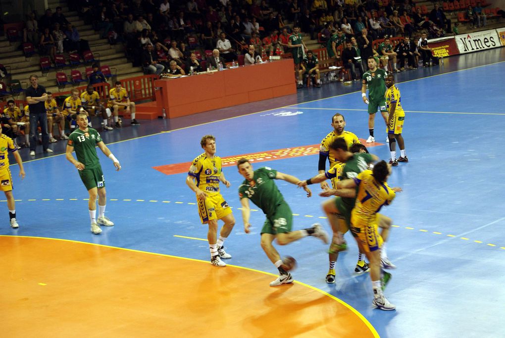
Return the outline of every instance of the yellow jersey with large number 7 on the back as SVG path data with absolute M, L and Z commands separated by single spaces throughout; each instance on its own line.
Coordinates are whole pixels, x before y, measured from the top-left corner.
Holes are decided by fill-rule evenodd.
M 376 214 L 383 205 L 389 205 L 396 193 L 389 188 L 386 182 L 377 182 L 371 170 L 365 170 L 354 179 L 358 185 L 356 204 L 352 209 L 352 223 L 372 223 Z M 356 220 L 356 221 L 355 221 Z

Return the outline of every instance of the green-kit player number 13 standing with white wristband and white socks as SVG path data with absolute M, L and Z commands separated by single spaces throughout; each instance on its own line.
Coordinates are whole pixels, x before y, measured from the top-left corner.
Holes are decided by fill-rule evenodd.
M 88 209 L 89 218 L 91 220 L 91 232 L 98 235 L 102 229 L 98 224 L 103 226 L 114 226 L 114 223 L 105 216 L 105 207 L 107 204 L 107 195 L 105 190 L 105 179 L 102 173 L 102 166 L 96 155 L 96 146 L 102 152 L 112 159 L 116 170 L 121 170 L 121 165 L 118 159 L 107 148 L 102 137 L 91 127 L 88 127 L 88 118 L 86 114 L 79 114 L 76 117 L 76 122 L 79 128 L 74 130 L 67 142 L 66 157 L 77 168 L 82 183 L 86 187 L 89 194 Z M 72 151 L 75 149 L 75 160 Z M 96 218 L 96 198 L 98 197 L 98 218 Z

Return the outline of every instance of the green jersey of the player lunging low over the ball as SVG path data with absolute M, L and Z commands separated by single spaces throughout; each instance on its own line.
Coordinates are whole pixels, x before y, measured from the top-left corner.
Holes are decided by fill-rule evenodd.
M 267 217 L 273 216 L 277 207 L 284 201 L 284 197 L 273 181 L 276 176 L 277 171 L 268 166 L 255 170 L 252 181 L 244 180 L 238 187 L 238 196 L 240 199 L 250 199 L 263 210 Z

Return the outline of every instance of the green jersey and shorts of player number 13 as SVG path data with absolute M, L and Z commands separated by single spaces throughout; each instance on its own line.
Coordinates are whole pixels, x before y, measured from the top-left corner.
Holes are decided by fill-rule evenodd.
M 79 171 L 79 176 L 87 190 L 105 187 L 102 166 L 96 155 L 96 144 L 99 142 L 102 142 L 102 137 L 93 128 L 88 128 L 86 132 L 78 128 L 68 138 L 67 144 L 74 147 L 77 160 L 84 164 L 84 170 Z

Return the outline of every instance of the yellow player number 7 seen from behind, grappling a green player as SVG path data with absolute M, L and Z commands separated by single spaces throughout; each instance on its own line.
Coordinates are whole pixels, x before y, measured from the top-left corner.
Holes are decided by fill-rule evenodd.
M 385 286 L 381 285 L 380 276 L 380 249 L 383 240 L 377 231 L 380 221 L 378 211 L 383 205 L 391 204 L 395 193 L 401 191 L 401 188 L 389 188 L 386 183 L 389 175 L 391 165 L 380 161 L 375 164 L 373 171 L 366 170 L 354 179 L 339 182 L 342 189 L 358 187 L 356 205 L 351 213 L 351 232 L 369 260 L 374 294 L 372 305 L 381 310 L 395 309 L 382 293 Z

